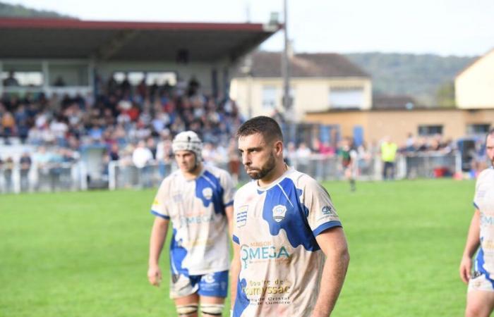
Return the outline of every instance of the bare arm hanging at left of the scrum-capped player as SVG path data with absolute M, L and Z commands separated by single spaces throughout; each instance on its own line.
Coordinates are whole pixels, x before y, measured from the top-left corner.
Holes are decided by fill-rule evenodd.
M 149 263 L 147 269 L 147 279 L 151 285 L 159 286 L 162 279 L 162 273 L 159 269 L 159 254 L 163 249 L 164 241 L 167 237 L 169 220 L 156 217 L 155 223 L 152 225 L 150 247 L 149 247 Z

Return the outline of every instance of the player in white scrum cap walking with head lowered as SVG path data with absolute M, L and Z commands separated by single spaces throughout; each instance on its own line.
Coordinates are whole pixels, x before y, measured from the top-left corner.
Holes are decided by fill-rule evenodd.
M 203 144 L 193 131 L 172 142 L 179 169 L 164 178 L 152 204 L 147 278 L 159 286 L 161 254 L 169 221 L 170 297 L 179 316 L 221 316 L 227 297 L 229 235 L 234 185 L 227 171 L 205 166 Z

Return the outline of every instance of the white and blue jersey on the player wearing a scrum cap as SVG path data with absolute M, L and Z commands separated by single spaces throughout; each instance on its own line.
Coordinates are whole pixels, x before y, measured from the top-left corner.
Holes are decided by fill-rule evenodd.
M 225 170 L 203 166 L 194 180 L 176 170 L 160 185 L 151 213 L 171 219 L 170 268 L 174 275 L 229 269 L 228 221 L 234 185 Z

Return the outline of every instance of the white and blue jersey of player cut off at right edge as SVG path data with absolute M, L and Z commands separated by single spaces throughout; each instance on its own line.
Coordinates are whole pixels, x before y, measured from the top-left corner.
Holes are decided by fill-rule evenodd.
M 494 169 L 478 175 L 475 185 L 474 206 L 481 212 L 481 247 L 476 258 L 475 271 L 494 279 Z M 493 285 L 494 287 L 494 285 Z

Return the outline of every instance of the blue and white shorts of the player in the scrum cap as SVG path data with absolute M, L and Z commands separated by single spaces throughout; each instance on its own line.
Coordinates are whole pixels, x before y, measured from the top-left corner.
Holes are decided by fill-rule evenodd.
M 204 275 L 172 274 L 170 298 L 176 299 L 198 293 L 200 296 L 227 297 L 228 271 Z

